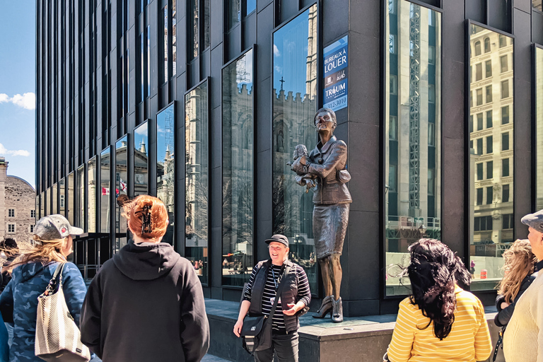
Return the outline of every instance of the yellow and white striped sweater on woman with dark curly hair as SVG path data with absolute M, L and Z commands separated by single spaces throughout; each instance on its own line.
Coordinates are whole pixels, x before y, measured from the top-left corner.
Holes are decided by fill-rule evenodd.
M 455 322 L 443 341 L 434 336 L 433 322 L 424 328 L 430 318 L 424 317 L 422 310 L 412 305 L 409 298 L 399 303 L 396 326 L 387 351 L 391 362 L 475 362 L 489 358 L 492 345 L 481 300 L 459 286 L 456 286 L 455 294 Z

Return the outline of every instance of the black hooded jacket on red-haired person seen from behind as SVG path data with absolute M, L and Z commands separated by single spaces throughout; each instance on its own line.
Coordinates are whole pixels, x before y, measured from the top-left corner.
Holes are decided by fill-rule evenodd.
M 104 362 L 194 362 L 209 348 L 202 284 L 166 243 L 130 241 L 91 282 L 81 341 Z

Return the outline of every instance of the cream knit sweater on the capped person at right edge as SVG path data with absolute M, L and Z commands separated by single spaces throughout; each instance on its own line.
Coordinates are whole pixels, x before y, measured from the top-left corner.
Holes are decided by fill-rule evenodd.
M 526 289 L 503 335 L 507 362 L 543 361 L 543 273 Z

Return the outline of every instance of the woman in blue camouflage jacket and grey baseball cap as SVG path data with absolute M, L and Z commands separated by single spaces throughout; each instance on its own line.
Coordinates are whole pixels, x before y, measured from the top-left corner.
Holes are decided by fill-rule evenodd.
M 6 322 L 13 322 L 13 344 L 9 351 L 10 362 L 43 361 L 35 356 L 37 297 L 47 288 L 59 263 L 65 263 L 62 271 L 62 287 L 66 305 L 76 325 L 86 294 L 81 272 L 75 264 L 66 262 L 71 253 L 71 235 L 83 230 L 74 228 L 62 215 L 40 218 L 34 228 L 34 245 L 21 251 L 9 265 L 11 281 L 0 294 L 0 311 Z

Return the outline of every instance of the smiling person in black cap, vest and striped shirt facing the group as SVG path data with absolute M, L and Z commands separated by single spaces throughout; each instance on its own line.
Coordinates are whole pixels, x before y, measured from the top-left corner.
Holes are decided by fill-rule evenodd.
M 288 238 L 276 234 L 265 240 L 269 245 L 269 259 L 258 262 L 243 294 L 234 334 L 240 337 L 243 319 L 250 315 L 269 315 L 275 298 L 277 307 L 272 316 L 271 348 L 255 351 L 256 362 L 271 362 L 274 352 L 279 362 L 298 361 L 298 317 L 308 311 L 311 301 L 308 276 L 298 264 L 288 260 Z M 284 287 L 277 296 L 279 284 Z

